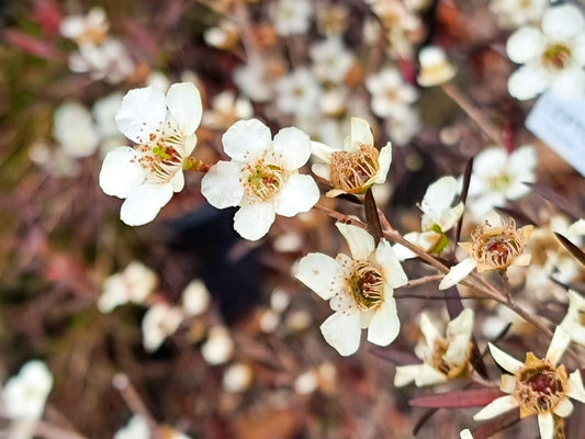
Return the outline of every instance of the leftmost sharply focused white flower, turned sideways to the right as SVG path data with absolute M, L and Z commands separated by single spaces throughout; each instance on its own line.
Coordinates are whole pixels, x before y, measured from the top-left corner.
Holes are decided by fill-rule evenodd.
M 196 144 L 202 114 L 199 90 L 189 82 L 131 90 L 117 111 L 120 131 L 136 143 L 108 154 L 100 187 L 108 195 L 125 199 L 120 217 L 132 226 L 153 221 L 183 189 L 183 165 Z

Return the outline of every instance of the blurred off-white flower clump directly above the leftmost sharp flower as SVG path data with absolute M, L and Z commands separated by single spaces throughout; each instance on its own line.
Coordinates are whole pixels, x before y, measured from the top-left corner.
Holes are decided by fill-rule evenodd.
M 124 45 L 114 38 L 100 45 L 83 45 L 69 56 L 69 69 L 77 74 L 89 74 L 93 80 L 120 83 L 132 74 L 135 65 Z

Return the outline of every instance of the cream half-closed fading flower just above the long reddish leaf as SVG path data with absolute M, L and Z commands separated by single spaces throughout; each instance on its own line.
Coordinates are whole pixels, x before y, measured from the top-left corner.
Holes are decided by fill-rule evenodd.
M 424 362 L 396 367 L 394 385 L 403 386 L 413 381 L 416 386 L 434 385 L 470 373 L 472 309 L 463 309 L 458 317 L 449 322 L 445 337 L 428 315 L 423 313 L 420 330 L 425 339 L 416 346 L 415 353 Z

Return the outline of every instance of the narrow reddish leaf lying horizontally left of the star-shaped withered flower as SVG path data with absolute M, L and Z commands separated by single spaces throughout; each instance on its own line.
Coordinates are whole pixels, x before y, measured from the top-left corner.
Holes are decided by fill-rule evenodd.
M 409 404 L 413 407 L 429 408 L 483 407 L 502 395 L 503 393 L 498 387 L 470 389 L 466 391 L 419 396 L 412 399 Z

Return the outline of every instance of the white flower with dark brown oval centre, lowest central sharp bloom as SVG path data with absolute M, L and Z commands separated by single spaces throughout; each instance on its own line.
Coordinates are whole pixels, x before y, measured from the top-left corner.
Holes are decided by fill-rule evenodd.
M 322 299 L 329 300 L 335 313 L 320 330 L 325 340 L 342 356 L 356 352 L 361 329 L 368 328 L 368 341 L 390 345 L 398 335 L 394 289 L 408 282 L 398 259 L 385 239 L 378 247 L 365 230 L 337 223 L 351 257 L 331 258 L 310 254 L 299 262 L 295 277 Z

